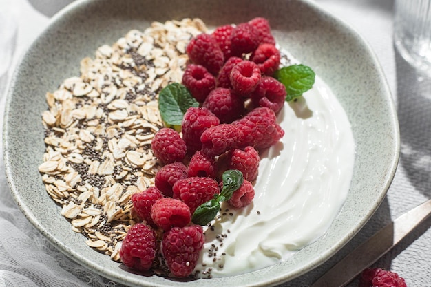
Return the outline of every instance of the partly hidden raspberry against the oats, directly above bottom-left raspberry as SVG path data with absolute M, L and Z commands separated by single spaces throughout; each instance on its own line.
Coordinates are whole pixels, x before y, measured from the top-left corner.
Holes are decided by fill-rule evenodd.
M 143 192 L 132 195 L 134 210 L 141 220 L 145 220 L 152 227 L 156 227 L 156 224 L 151 219 L 151 206 L 162 197 L 162 193 L 156 187 L 149 187 Z

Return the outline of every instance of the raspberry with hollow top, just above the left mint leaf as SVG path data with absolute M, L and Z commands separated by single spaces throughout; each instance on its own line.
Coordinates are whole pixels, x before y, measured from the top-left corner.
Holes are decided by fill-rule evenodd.
M 193 98 L 202 103 L 215 88 L 215 78 L 202 65 L 187 65 L 182 75 L 182 85 L 189 89 Z

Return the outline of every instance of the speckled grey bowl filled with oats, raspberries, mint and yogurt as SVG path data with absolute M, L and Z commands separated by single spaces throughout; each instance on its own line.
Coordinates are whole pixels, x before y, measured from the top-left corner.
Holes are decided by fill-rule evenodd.
M 3 146 L 23 213 L 96 273 L 271 286 L 366 224 L 399 131 L 370 48 L 311 1 L 76 1 L 21 59 Z

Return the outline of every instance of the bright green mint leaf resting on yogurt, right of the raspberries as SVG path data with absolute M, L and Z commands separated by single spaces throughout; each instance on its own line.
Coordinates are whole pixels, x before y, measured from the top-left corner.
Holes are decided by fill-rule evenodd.
M 274 77 L 286 87 L 286 101 L 302 96 L 311 89 L 315 81 L 315 72 L 306 65 L 291 65 L 275 71 Z

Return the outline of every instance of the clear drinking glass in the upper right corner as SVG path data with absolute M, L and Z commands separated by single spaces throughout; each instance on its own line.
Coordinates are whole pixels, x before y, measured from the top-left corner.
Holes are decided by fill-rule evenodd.
M 396 0 L 394 41 L 399 54 L 431 76 L 431 0 Z

